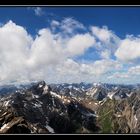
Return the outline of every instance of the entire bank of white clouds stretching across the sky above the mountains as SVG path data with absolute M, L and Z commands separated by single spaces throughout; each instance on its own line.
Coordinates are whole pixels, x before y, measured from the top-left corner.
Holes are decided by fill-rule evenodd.
M 128 63 L 126 72 L 121 72 L 125 68 L 122 62 L 139 59 L 138 37 L 129 36 L 121 40 L 106 27 L 93 26 L 93 33 L 75 33 L 77 29 L 84 30 L 85 27 L 72 18 L 53 20 L 51 28 L 40 29 L 33 38 L 24 27 L 13 21 L 1 25 L 0 84 L 36 80 L 101 82 L 130 80 L 140 75 L 140 66 L 137 64 L 132 67 Z M 64 37 L 67 33 L 71 35 Z M 90 49 L 94 50 L 93 57 L 96 57 L 95 51 L 100 57 L 78 61 L 77 56 L 85 55 Z

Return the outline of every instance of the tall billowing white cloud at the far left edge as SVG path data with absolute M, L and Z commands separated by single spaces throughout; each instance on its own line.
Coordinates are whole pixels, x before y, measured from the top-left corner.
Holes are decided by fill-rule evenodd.
M 15 80 L 25 71 L 32 38 L 26 30 L 9 21 L 0 27 L 0 79 Z M 21 74 L 20 71 L 23 71 Z

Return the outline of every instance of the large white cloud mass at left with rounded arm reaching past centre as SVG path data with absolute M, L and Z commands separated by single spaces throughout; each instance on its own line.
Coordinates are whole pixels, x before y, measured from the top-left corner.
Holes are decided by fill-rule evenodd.
M 33 39 L 24 27 L 9 21 L 0 27 L 0 81 L 43 80 L 57 65 L 83 54 L 94 43 L 88 33 L 65 41 L 48 28 L 39 30 Z

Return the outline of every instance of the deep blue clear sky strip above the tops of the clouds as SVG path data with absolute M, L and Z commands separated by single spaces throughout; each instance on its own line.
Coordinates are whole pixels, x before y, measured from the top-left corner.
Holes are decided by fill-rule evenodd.
M 42 7 L 42 9 L 43 16 L 36 16 L 34 11 L 27 10 L 27 7 L 1 7 L 1 22 L 13 20 L 34 34 L 36 29 L 47 26 L 49 20 L 74 17 L 85 26 L 106 25 L 121 37 L 126 34 L 139 34 L 140 7 Z

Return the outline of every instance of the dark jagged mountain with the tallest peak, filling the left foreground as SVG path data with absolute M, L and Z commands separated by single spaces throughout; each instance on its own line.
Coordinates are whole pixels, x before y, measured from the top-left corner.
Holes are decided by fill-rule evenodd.
M 95 112 L 44 81 L 0 99 L 0 133 L 96 133 Z

